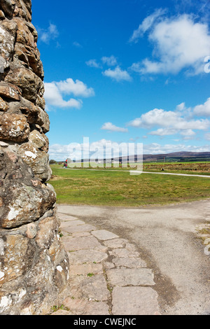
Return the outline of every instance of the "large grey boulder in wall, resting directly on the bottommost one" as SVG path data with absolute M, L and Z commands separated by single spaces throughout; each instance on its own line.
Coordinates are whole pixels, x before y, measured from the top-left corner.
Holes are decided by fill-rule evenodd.
M 0 226 L 16 228 L 37 221 L 56 202 L 52 188 L 34 178 L 22 158 L 1 153 Z

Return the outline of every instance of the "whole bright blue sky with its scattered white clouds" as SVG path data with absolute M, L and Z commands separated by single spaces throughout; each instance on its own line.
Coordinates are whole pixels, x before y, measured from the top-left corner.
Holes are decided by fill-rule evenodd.
M 210 151 L 210 3 L 32 1 L 50 158 L 69 144 Z

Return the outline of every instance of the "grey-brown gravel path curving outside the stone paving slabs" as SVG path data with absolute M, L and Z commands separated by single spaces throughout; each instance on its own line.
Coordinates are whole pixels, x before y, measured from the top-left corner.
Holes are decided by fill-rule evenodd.
M 200 225 L 210 223 L 210 200 L 132 209 L 65 207 L 135 244 L 155 274 L 162 314 L 210 314 L 210 255 L 197 235 Z

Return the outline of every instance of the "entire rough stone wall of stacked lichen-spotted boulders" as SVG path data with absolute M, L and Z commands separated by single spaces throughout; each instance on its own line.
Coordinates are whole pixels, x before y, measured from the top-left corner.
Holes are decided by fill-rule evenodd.
M 31 0 L 0 0 L 0 314 L 47 314 L 65 287 Z

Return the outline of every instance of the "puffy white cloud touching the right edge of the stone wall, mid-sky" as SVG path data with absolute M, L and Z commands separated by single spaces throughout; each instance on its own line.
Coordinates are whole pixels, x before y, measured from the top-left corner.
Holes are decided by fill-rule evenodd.
M 80 80 L 76 80 L 75 83 L 71 78 L 59 82 L 45 83 L 44 97 L 48 111 L 50 111 L 50 106 L 59 109 L 81 108 L 83 105 L 81 99 L 70 98 L 66 100 L 64 99 L 66 94 L 73 94 L 76 97 L 90 97 L 94 95 L 94 90 L 87 88 Z

